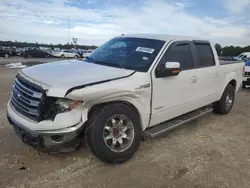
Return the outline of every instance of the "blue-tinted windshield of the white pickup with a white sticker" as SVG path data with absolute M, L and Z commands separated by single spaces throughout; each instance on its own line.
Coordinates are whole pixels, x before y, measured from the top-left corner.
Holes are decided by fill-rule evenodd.
M 165 41 L 142 38 L 114 38 L 95 51 L 86 62 L 146 72 Z

